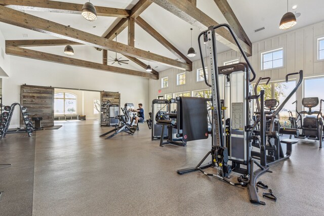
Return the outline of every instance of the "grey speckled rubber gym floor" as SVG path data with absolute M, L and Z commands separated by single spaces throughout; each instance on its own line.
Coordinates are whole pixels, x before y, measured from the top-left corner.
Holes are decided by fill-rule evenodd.
M 0 141 L 0 215 L 324 215 L 324 149 L 300 142 L 290 159 L 260 178 L 277 201 L 250 203 L 246 188 L 201 172 L 178 175 L 210 150 L 210 140 L 159 147 L 140 124 L 105 140 L 96 121 L 64 123 Z M 213 168 L 208 169 L 210 172 Z

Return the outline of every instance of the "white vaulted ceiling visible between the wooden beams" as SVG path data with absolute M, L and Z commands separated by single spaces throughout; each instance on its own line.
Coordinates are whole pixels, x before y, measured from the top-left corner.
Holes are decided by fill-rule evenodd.
M 186 1 L 186 0 L 183 0 Z M 82 1 L 77 0 L 61 0 L 61 2 L 77 3 L 82 4 Z M 92 0 L 91 3 L 95 6 L 111 7 L 111 8 L 121 8 L 121 9 L 131 9 L 138 0 Z M 250 40 L 256 42 L 265 38 L 272 37 L 283 33 L 283 30 L 278 28 L 279 21 L 287 12 L 287 2 L 282 0 L 271 0 L 271 1 L 260 1 L 260 0 L 228 0 L 231 8 L 233 9 L 236 17 L 240 21 L 242 27 L 245 29 Z M 292 10 L 293 5 L 298 5 L 296 10 Z M 221 14 L 220 10 L 217 8 L 214 0 L 197 0 L 197 8 L 212 17 L 218 23 L 226 23 L 225 18 Z M 324 20 L 322 16 L 322 9 L 324 8 L 324 1 L 322 0 L 290 0 L 289 10 L 294 13 L 301 13 L 301 16 L 297 18 L 297 25 L 292 28 L 300 28 L 306 25 L 310 25 L 319 21 Z M 70 25 L 72 28 L 87 31 L 96 35 L 104 35 L 108 32 L 114 24 L 116 24 L 120 19 L 112 17 L 98 17 L 94 22 L 89 22 L 85 20 L 80 15 L 74 14 L 58 14 L 50 12 L 30 12 L 26 13 L 32 14 L 34 16 L 42 17 L 63 25 Z M 191 26 L 182 19 L 176 17 L 170 12 L 160 8 L 159 6 L 152 4 L 148 7 L 142 14 L 141 17 L 149 23 L 155 30 L 157 30 L 161 35 L 163 35 L 167 40 L 169 40 L 176 48 L 178 48 L 183 54 L 186 54 L 188 48 L 190 47 L 190 28 L 193 28 L 192 38 L 193 38 L 193 48 L 196 52 L 198 50 L 197 36 L 200 30 Z M 95 28 L 93 26 L 96 26 Z M 254 32 L 255 29 L 265 27 L 265 30 L 260 32 Z M 0 30 L 4 34 L 6 39 L 51 39 L 54 38 L 47 34 L 35 32 L 32 30 L 27 30 L 24 28 L 11 26 L 8 24 L 0 23 Z M 28 34 L 28 37 L 23 37 L 23 34 Z M 135 26 L 135 47 L 156 53 L 162 56 L 166 56 L 172 59 L 177 59 L 169 50 L 164 46 L 160 45 L 157 40 L 151 37 L 146 31 L 141 29 L 138 25 Z M 118 42 L 123 42 L 127 44 L 127 28 L 121 32 L 117 37 Z M 82 46 L 82 48 L 76 48 L 78 52 L 84 52 L 82 55 L 74 55 L 74 58 L 80 57 L 81 59 L 87 59 L 87 50 L 93 49 L 91 47 Z M 48 47 L 42 48 L 42 51 L 47 50 L 49 53 L 64 55 L 61 52 L 62 49 Z M 224 52 L 229 50 L 228 47 L 218 43 L 218 52 Z M 98 52 L 98 51 L 96 51 Z M 91 50 L 90 53 L 93 53 Z M 99 53 L 99 52 L 98 52 Z M 89 55 L 89 54 L 88 54 Z M 112 52 L 108 53 L 108 56 L 114 56 Z M 101 54 L 98 56 L 96 62 L 101 62 Z M 118 55 L 119 56 L 119 55 Z M 125 58 L 125 57 L 124 57 Z M 192 58 L 192 61 L 198 60 L 199 55 Z M 147 64 L 147 61 L 143 61 Z M 115 64 L 114 64 L 115 65 Z M 158 63 L 151 63 L 150 65 L 157 71 L 163 71 L 168 69 L 168 66 L 161 65 Z M 117 65 L 118 66 L 118 65 Z M 157 66 L 157 68 L 155 68 Z M 130 61 L 127 66 L 130 69 L 136 69 L 145 71 L 143 68 L 139 67 L 135 63 Z

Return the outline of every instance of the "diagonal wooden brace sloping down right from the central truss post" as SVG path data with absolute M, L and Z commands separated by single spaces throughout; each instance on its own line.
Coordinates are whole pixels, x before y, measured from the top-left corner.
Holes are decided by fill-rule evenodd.
M 135 22 L 147 33 L 149 33 L 152 37 L 154 37 L 158 42 L 160 42 L 161 45 L 163 45 L 171 53 L 177 56 L 181 61 L 186 62 L 188 64 L 192 64 L 190 59 L 188 59 L 177 48 L 175 48 L 166 38 L 164 38 L 161 34 L 159 34 L 154 28 L 152 28 L 152 26 L 150 26 L 147 22 L 145 22 L 145 20 L 143 20 L 140 16 L 136 18 Z

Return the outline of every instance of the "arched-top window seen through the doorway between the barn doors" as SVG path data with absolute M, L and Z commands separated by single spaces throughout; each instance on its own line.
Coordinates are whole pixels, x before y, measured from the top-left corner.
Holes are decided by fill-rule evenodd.
M 76 114 L 76 96 L 65 92 L 56 93 L 54 95 L 54 114 Z

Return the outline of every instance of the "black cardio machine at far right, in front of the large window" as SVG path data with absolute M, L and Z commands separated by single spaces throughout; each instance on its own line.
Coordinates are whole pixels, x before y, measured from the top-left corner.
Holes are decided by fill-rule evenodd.
M 303 98 L 302 105 L 308 109 L 307 111 L 298 111 L 297 109 L 297 100 L 293 103 L 296 103 L 296 114 L 294 117 L 292 112 L 289 120 L 293 128 L 301 129 L 302 133 L 296 135 L 295 138 L 299 139 L 308 139 L 308 140 L 318 140 L 319 148 L 322 147 L 323 141 L 323 114 L 321 112 L 322 102 L 324 100 L 319 100 L 317 97 Z M 319 111 L 313 111 L 312 108 L 316 107 L 319 104 Z M 314 114 L 316 116 L 314 116 Z M 302 117 L 304 115 L 304 118 Z M 299 125 L 298 125 L 299 124 Z

